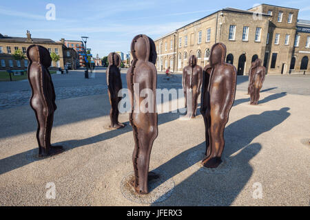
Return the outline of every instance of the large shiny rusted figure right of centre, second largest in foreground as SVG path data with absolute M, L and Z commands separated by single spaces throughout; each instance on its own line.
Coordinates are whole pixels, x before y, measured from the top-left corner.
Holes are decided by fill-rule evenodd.
M 226 47 L 216 43 L 211 48 L 210 65 L 203 70 L 200 112 L 205 120 L 205 158 L 203 166 L 216 168 L 222 162 L 224 129 L 236 94 L 236 68 L 225 63 Z

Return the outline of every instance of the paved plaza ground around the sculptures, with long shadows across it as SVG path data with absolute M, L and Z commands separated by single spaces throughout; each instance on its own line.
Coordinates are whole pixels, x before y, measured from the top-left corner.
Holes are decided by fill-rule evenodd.
M 150 170 L 162 172 L 163 184 L 156 187 L 169 188 L 156 201 L 141 203 L 123 193 L 134 139 L 127 113 L 119 118 L 124 129 L 107 128 L 103 72 L 88 80 L 82 69 L 52 76 L 58 106 L 52 143 L 65 152 L 45 159 L 33 156 L 37 122 L 28 81 L 0 83 L 0 206 L 309 206 L 309 75 L 267 76 L 258 106 L 249 105 L 247 76 L 238 76 L 223 172 L 199 165 L 205 151 L 200 114 L 182 121 L 181 113 L 159 113 Z M 180 80 L 181 74 L 168 81 L 160 73 L 158 88 L 181 88 Z M 46 197 L 48 183 L 56 187 L 54 199 Z

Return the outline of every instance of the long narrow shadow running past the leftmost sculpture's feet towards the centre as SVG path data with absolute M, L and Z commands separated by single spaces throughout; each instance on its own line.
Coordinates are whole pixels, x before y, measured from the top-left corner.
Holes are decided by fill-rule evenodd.
M 180 115 L 178 113 L 170 113 L 170 112 L 158 114 L 158 125 L 165 124 L 165 123 L 171 122 L 173 120 L 177 120 L 179 118 L 179 116 Z M 130 126 L 128 121 L 123 122 L 123 123 L 126 124 L 126 126 L 123 129 L 106 131 L 106 132 L 101 133 L 99 135 L 94 135 L 92 137 L 87 137 L 87 138 L 81 139 L 81 140 L 65 140 L 63 142 L 52 143 L 52 145 L 63 145 L 65 151 L 70 151 L 70 150 L 72 150 L 74 148 L 78 148 L 80 146 L 86 146 L 86 145 L 94 144 L 97 142 L 103 142 L 103 141 L 109 140 L 113 137 L 117 137 L 118 135 L 122 135 L 124 133 L 132 131 L 132 126 Z M 37 147 L 37 146 L 35 146 L 35 147 Z M 37 149 L 39 149 L 39 148 L 37 148 Z M 37 149 L 36 149 L 36 152 L 37 152 Z M 32 163 L 33 161 L 30 161 L 29 159 L 27 159 L 28 155 L 30 155 L 32 152 L 33 152 L 33 149 L 31 149 L 29 151 L 25 151 L 23 153 L 18 153 L 16 155 L 12 155 L 10 157 L 0 159 L 0 175 L 3 173 L 7 173 L 11 170 L 14 170 L 16 168 L 20 168 L 22 166 L 25 166 L 25 165 Z M 62 156 L 62 155 L 59 155 L 59 156 Z

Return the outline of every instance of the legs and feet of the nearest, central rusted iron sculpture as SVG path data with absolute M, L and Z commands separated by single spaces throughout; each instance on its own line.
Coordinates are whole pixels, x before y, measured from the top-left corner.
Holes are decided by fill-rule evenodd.
M 147 132 L 149 129 L 134 128 L 135 147 L 132 154 L 134 164 L 134 189 L 140 194 L 149 192 L 149 175 L 156 179 L 156 174 L 149 173 L 149 157 L 151 155 L 152 145 L 156 137 L 156 132 Z

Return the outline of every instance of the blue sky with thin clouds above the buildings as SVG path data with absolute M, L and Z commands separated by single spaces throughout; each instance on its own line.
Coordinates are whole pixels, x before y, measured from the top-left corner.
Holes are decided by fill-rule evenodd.
M 56 6 L 54 21 L 45 19 L 48 3 Z M 113 51 L 127 53 L 136 34 L 147 34 L 156 39 L 221 8 L 247 10 L 260 3 L 299 8 L 298 19 L 310 20 L 309 0 L 2 0 L 0 33 L 25 36 L 26 30 L 30 30 L 34 38 L 54 41 L 61 38 L 81 40 L 81 36 L 89 36 L 87 47 L 92 48 L 92 54 L 102 57 Z

